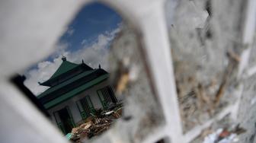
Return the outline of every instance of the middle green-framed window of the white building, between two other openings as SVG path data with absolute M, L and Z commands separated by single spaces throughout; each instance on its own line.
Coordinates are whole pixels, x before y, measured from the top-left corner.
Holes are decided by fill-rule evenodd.
M 76 105 L 78 106 L 78 110 L 81 113 L 82 119 L 86 119 L 88 116 L 91 116 L 91 114 L 94 114 L 94 106 L 89 95 L 82 98 L 81 100 L 78 100 Z

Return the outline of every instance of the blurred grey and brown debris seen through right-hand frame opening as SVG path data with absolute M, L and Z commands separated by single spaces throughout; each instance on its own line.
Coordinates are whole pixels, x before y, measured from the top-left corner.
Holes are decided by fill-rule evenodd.
M 166 15 L 184 132 L 234 102 L 244 1 L 181 0 Z M 171 18 L 170 18 L 171 17 Z

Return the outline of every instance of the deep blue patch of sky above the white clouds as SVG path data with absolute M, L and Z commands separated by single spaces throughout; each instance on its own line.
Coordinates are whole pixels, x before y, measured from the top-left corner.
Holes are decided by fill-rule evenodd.
M 78 50 L 82 43 L 94 43 L 99 34 L 116 29 L 121 21 L 120 15 L 105 5 L 99 3 L 87 5 L 69 24 L 67 32 L 59 42 L 68 42 L 68 50 L 71 52 Z

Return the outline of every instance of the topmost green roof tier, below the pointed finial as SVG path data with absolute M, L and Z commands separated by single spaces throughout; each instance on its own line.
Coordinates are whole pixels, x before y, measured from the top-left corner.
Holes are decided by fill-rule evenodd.
M 58 77 L 59 75 L 62 75 L 63 73 L 65 73 L 66 71 L 71 70 L 72 68 L 75 68 L 79 66 L 78 64 L 69 62 L 69 61 L 63 61 L 62 64 L 59 66 L 59 68 L 57 69 L 57 71 L 54 72 L 54 74 L 51 76 L 51 79 Z M 48 81 L 49 81 L 48 80 Z

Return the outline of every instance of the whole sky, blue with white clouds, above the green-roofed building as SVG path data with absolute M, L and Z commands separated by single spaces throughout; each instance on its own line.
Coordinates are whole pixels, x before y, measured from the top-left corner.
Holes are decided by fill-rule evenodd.
M 47 87 L 40 86 L 37 82 L 46 81 L 53 75 L 62 63 L 62 55 L 69 62 L 79 64 L 84 59 L 92 68 L 101 64 L 102 68 L 107 69 L 109 46 L 121 25 L 122 18 L 112 9 L 98 3 L 86 5 L 78 11 L 53 47 L 56 51 L 25 71 L 27 79 L 24 84 L 35 95 L 45 91 Z

